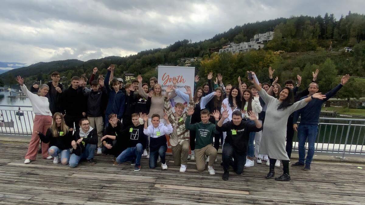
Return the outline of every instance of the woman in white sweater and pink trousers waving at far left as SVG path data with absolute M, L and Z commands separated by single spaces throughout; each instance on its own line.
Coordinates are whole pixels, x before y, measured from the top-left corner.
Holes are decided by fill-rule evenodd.
M 30 163 L 31 160 L 35 160 L 37 157 L 39 135 L 37 135 L 35 131 L 42 132 L 42 134 L 45 135 L 47 129 L 52 124 L 52 113 L 49 109 L 49 101 L 48 98 L 45 97 L 49 91 L 49 86 L 43 84 L 39 87 L 38 94 L 33 94 L 27 89 L 27 86 L 24 85 L 24 79 L 22 77 L 18 76 L 16 81 L 18 81 L 20 89 L 22 89 L 24 94 L 29 98 L 35 114 L 33 134 L 24 161 L 24 163 L 27 164 Z M 49 143 L 42 143 L 42 157 L 52 159 L 52 156 L 48 155 L 48 148 Z

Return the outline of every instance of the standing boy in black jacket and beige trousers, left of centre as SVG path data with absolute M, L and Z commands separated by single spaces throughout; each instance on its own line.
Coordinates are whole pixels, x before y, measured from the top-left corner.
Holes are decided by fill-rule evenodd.
M 80 78 L 82 79 L 82 77 Z M 100 88 L 99 88 L 100 85 Z M 101 154 L 101 138 L 103 137 L 103 101 L 108 98 L 107 89 L 104 86 L 104 81 L 94 80 L 91 82 L 91 92 L 86 92 L 86 89 L 82 89 L 87 101 L 86 115 L 90 122 L 90 126 L 96 128 L 97 131 L 97 153 Z

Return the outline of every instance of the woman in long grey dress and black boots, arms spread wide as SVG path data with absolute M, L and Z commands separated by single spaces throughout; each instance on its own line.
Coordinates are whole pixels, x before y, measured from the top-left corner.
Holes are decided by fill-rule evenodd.
M 289 158 L 285 151 L 285 141 L 287 135 L 287 121 L 291 113 L 303 108 L 314 98 L 324 99 L 325 95 L 315 93 L 311 97 L 294 103 L 293 90 L 285 87 L 281 90 L 278 99 L 270 96 L 258 84 L 256 76 L 251 82 L 255 85 L 262 100 L 267 105 L 265 122 L 263 125 L 260 154 L 267 154 L 270 158 L 270 171 L 266 175 L 266 179 L 274 177 L 274 166 L 276 160 L 283 163 L 283 175 L 275 178 L 277 181 L 289 181 Z

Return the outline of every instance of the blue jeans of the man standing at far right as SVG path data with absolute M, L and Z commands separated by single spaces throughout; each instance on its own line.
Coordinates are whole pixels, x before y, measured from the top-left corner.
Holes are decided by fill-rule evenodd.
M 308 138 L 308 154 L 306 165 L 312 163 L 314 155 L 314 143 L 318 134 L 318 125 L 299 124 L 298 139 L 299 139 L 299 162 L 304 163 L 306 157 L 306 140 Z

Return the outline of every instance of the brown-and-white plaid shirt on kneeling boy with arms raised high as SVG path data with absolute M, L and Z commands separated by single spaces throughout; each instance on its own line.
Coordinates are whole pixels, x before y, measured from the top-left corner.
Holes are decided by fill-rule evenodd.
M 190 107 L 194 107 L 194 102 L 193 101 L 189 101 L 189 104 L 188 104 L 188 109 Z M 171 109 L 171 106 L 170 106 L 170 102 L 168 100 L 167 97 L 164 98 L 164 109 L 165 109 L 165 112 L 167 113 L 167 116 L 169 117 L 169 121 L 172 125 L 172 127 L 176 130 L 176 132 L 172 132 L 170 134 L 170 143 L 171 143 L 171 146 L 176 146 L 177 144 L 174 143 L 174 141 L 179 144 L 182 144 L 183 141 L 185 140 L 189 140 L 190 139 L 190 135 L 189 135 L 189 130 L 187 130 L 185 128 L 185 120 L 187 118 L 187 113 L 188 111 L 185 111 L 181 116 L 180 118 L 177 118 L 175 113 L 172 112 L 172 109 Z M 177 136 L 174 136 L 176 135 Z

